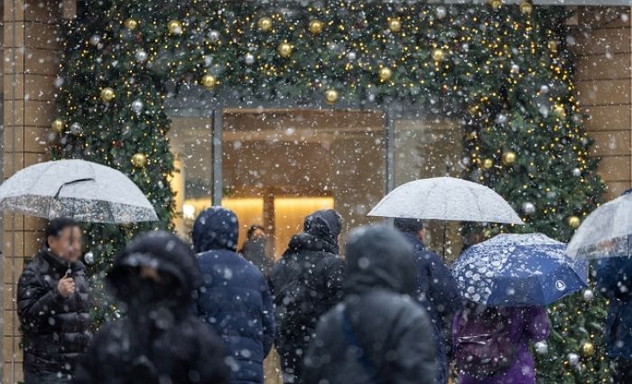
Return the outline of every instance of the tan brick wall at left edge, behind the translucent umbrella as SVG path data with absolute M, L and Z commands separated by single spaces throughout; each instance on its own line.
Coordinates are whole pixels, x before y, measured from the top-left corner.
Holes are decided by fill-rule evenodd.
M 55 115 L 53 82 L 59 69 L 60 2 L 5 0 L 4 177 L 46 160 L 45 146 Z M 24 258 L 33 257 L 43 221 L 4 215 L 3 233 L 3 382 L 22 379 L 19 323 L 14 315 L 14 284 Z M 12 365 L 12 361 L 16 362 Z M 15 375 L 15 376 L 14 376 Z

